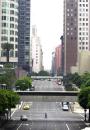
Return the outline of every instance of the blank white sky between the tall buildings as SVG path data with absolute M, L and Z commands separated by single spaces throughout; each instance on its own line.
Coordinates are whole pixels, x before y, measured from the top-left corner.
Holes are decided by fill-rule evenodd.
M 31 0 L 31 26 L 37 26 L 45 69 L 51 69 L 52 52 L 63 34 L 63 0 Z

